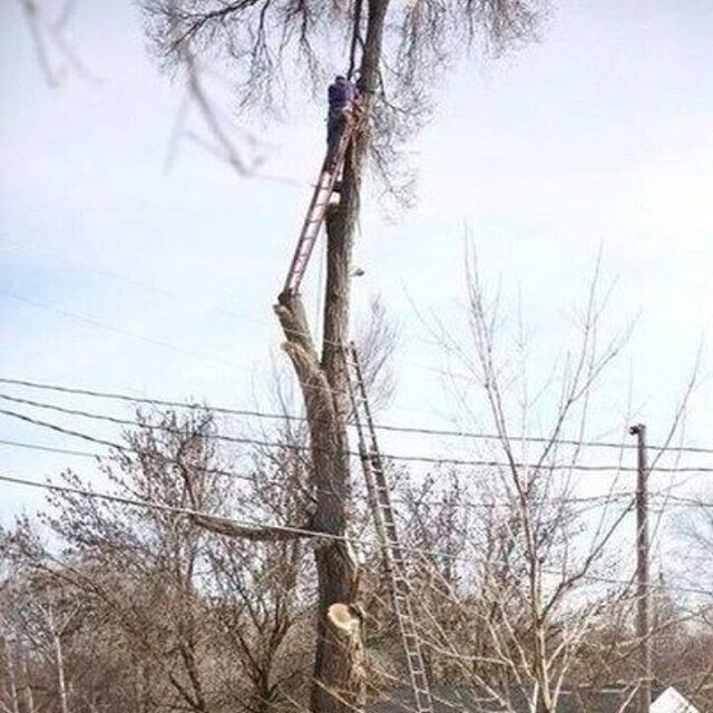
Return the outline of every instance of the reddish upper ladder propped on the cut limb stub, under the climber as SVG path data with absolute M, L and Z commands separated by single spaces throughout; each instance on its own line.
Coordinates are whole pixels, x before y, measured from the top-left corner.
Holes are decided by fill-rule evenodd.
M 320 234 L 322 223 L 324 223 L 324 216 L 326 215 L 326 209 L 330 204 L 330 197 L 334 192 L 334 185 L 344 166 L 346 147 L 356 130 L 358 124 L 358 118 L 352 118 L 352 120 L 344 126 L 339 141 L 334 147 L 333 156 L 330 155 L 329 149 L 324 156 L 320 176 L 314 186 L 312 199 L 310 201 L 310 207 L 302 224 L 297 246 L 290 263 L 290 271 L 287 272 L 285 286 L 283 287 L 283 294 L 293 294 L 300 287 L 307 263 L 310 262 L 310 255 L 312 255 L 312 248 Z

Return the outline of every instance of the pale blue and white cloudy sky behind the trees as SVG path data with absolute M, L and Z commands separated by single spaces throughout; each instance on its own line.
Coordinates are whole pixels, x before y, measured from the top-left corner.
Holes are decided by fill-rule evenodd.
M 70 74 L 58 88 L 43 82 L 16 4 L 0 6 L 0 375 L 268 404 L 265 384 L 284 360 L 271 305 L 322 158 L 324 107 L 305 99 L 285 124 L 253 128 L 275 147 L 263 170 L 279 179 L 241 179 L 187 138 L 166 173 L 183 94 L 158 71 L 133 4 L 77 4 L 72 47 L 97 80 Z M 506 332 L 520 295 L 535 380 L 570 344 L 603 251 L 603 285 L 613 285 L 605 331 L 635 318 L 636 326 L 590 436 L 621 437 L 631 416 L 664 437 L 713 326 L 712 36 L 704 1 L 563 1 L 539 43 L 497 62 L 476 58 L 438 89 L 434 120 L 410 147 L 414 209 L 387 219 L 367 202 L 356 247 L 358 315 L 381 295 L 400 325 L 399 388 L 383 420 L 438 426 L 455 416 L 448 358 L 424 322 L 462 332 L 469 232 L 486 282 L 500 285 Z M 195 117 L 189 126 L 199 130 Z M 320 261 L 318 252 L 312 286 Z M 314 314 L 310 291 L 306 302 Z M 690 443 L 713 445 L 710 372 L 704 353 Z M 488 428 L 476 391 L 471 408 L 467 426 Z M 2 416 L 0 438 L 87 446 Z M 82 465 L 0 453 L 2 470 L 22 477 Z M 39 497 L 3 492 L 3 519 Z

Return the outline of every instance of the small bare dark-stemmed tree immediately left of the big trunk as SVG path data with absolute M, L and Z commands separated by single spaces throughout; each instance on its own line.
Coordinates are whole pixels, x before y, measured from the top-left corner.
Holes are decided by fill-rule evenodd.
M 234 500 L 232 514 L 255 520 L 309 520 L 309 461 L 304 429 L 286 420 L 272 437 L 281 448 L 258 448 L 251 479 Z M 305 700 L 313 644 L 305 636 L 313 625 L 313 572 L 307 544 L 300 538 L 272 541 L 217 538 L 209 546 L 219 605 L 218 631 L 243 662 L 251 682 L 247 696 L 235 704 L 251 713 L 293 709 Z M 229 661 L 227 666 L 232 666 Z

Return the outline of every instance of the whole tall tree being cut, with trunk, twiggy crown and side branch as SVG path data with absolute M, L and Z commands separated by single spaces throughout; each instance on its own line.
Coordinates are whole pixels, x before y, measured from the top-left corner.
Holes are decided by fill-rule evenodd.
M 312 339 L 299 293 L 280 295 L 275 312 L 284 349 L 300 381 L 310 430 L 310 522 L 274 529 L 227 528 L 253 539 L 314 533 L 318 616 L 311 710 L 351 713 L 365 697 L 359 563 L 349 543 L 351 510 L 348 455 L 348 387 L 342 345 L 349 342 L 350 273 L 364 167 L 371 163 L 385 191 L 403 199 L 400 149 L 422 126 L 428 89 L 459 52 L 485 39 L 492 51 L 526 40 L 540 0 L 148 0 L 152 31 L 162 49 L 178 58 L 192 51 L 223 55 L 242 109 L 277 105 L 276 78 L 287 62 L 307 68 L 320 86 L 323 65 L 343 45 L 350 76 L 359 71 L 363 130 L 350 143 L 341 197 L 326 215 L 328 276 L 321 350 Z M 328 43 L 322 43 L 325 41 Z M 329 50 L 329 51 L 328 51 Z M 315 163 L 318 163 L 315 158 Z M 402 173 L 402 172 L 401 172 Z M 205 527 L 226 531 L 217 521 Z

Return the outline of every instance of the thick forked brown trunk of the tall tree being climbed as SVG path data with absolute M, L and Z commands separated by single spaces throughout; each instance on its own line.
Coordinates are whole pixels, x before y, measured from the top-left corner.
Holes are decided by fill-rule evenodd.
M 361 59 L 361 79 L 367 89 L 365 113 L 379 87 L 388 6 L 389 0 L 368 3 Z M 300 379 L 310 427 L 316 497 L 314 529 L 338 537 L 348 535 L 351 509 L 345 424 L 348 387 L 342 345 L 349 340 L 352 247 L 368 148 L 369 131 L 365 129 L 348 150 L 340 202 L 326 218 L 328 275 L 321 360 L 299 295 L 282 295 L 275 307 L 287 339 L 285 351 Z M 359 564 L 346 540 L 319 537 L 315 559 L 319 616 L 311 709 L 314 713 L 352 713 L 353 707 L 363 705 L 365 688 L 361 609 L 356 600 Z

